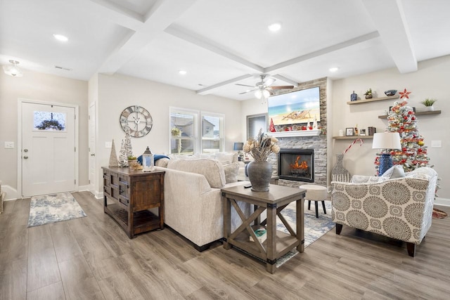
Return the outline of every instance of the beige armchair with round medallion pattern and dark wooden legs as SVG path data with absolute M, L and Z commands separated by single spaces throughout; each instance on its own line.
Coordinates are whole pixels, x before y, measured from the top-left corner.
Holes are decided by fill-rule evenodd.
M 414 256 L 416 244 L 431 226 L 436 184 L 434 169 L 404 173 L 400 166 L 380 177 L 355 175 L 349 183 L 333 181 L 331 216 L 336 233 L 345 224 L 392 237 L 406 242 L 409 256 Z

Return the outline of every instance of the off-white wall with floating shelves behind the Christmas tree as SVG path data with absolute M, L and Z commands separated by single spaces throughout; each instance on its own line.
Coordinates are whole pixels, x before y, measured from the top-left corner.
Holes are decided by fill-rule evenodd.
M 425 137 L 425 145 L 428 146 L 430 165 L 442 178 L 439 197 L 450 198 L 450 134 L 447 126 L 450 124 L 450 102 L 447 91 L 450 78 L 450 56 L 435 58 L 418 63 L 418 71 L 408 74 L 399 74 L 397 68 L 381 70 L 357 77 L 349 77 L 333 81 L 332 100 L 330 108 L 333 113 L 333 122 L 328 123 L 328 134 L 338 136 L 339 129 L 354 127 L 358 124 L 360 129 L 375 126 L 377 132 L 383 132 L 387 128 L 387 119 L 379 119 L 384 110 L 393 106 L 394 100 L 378 101 L 357 105 L 347 105 L 352 91 L 364 98 L 364 92 L 371 88 L 376 94 L 374 97 L 385 96 L 384 91 L 405 88 L 411 91 L 409 106 L 416 107 L 416 111 L 424 110 L 420 101 L 425 98 L 435 98 L 435 110 L 442 110 L 441 115 L 418 116 L 418 131 Z M 399 100 L 399 99 L 395 99 Z M 328 153 L 342 153 L 353 140 L 333 141 L 332 150 Z M 431 141 L 442 141 L 442 148 L 430 148 Z M 372 140 L 364 140 L 364 145 L 353 145 L 344 157 L 344 166 L 351 174 L 373 175 L 375 174 L 375 152 L 372 149 Z M 333 164 L 335 157 L 333 157 Z

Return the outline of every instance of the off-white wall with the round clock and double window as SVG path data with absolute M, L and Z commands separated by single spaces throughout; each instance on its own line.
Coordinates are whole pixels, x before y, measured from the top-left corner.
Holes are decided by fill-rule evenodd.
M 89 81 L 95 85 L 95 77 Z M 90 95 L 90 100 L 95 100 Z M 218 96 L 201 96 L 188 89 L 160 84 L 155 81 L 127 77 L 115 74 L 108 76 L 98 74 L 98 100 L 97 100 L 97 190 L 102 189 L 101 167 L 108 166 L 110 148 L 105 148 L 105 142 L 114 139 L 117 157 L 120 145 L 124 138 L 124 131 L 120 126 L 120 114 L 130 105 L 140 105 L 150 112 L 153 118 L 153 127 L 143 138 L 131 138 L 134 155 L 141 155 L 149 146 L 155 154 L 169 152 L 169 107 L 182 107 L 205 112 L 218 112 L 225 115 L 225 150 L 232 151 L 233 143 L 243 141 L 241 131 L 245 123 L 240 118 L 240 105 L 238 100 L 231 100 Z

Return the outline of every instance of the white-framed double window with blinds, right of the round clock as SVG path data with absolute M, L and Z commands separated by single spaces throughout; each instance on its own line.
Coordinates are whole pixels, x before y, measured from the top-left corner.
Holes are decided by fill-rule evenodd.
M 224 149 L 224 115 L 176 107 L 170 107 L 169 111 L 171 154 L 193 155 Z

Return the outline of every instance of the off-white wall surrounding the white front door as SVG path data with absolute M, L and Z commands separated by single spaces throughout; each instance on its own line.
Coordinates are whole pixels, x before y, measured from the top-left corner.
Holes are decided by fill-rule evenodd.
M 79 185 L 87 185 L 87 82 L 24 70 L 23 77 L 0 72 L 0 180 L 7 199 L 17 195 L 18 99 L 79 105 Z M 5 149 L 4 142 L 14 142 Z

